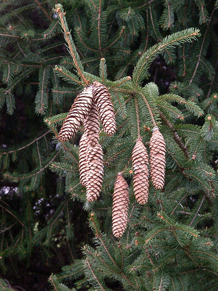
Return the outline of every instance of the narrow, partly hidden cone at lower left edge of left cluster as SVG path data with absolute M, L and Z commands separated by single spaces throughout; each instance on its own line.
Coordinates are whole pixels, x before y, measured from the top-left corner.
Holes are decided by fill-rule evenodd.
M 84 133 L 79 141 L 79 178 L 82 186 L 86 187 L 87 176 L 87 135 Z

